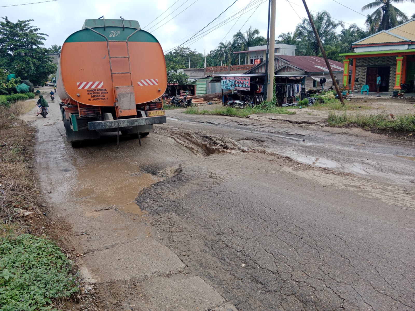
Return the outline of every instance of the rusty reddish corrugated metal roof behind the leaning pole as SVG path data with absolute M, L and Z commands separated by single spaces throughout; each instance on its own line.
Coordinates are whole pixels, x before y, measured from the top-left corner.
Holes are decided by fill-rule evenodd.
M 288 61 L 294 67 L 305 70 L 306 72 L 329 71 L 324 58 L 318 56 L 286 56 L 278 55 L 278 58 Z M 343 71 L 343 63 L 329 59 L 333 71 Z

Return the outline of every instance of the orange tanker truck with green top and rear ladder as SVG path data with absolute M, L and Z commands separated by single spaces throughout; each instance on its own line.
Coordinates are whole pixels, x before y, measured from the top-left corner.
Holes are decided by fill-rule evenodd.
M 159 41 L 126 19 L 87 19 L 59 54 L 57 90 L 72 146 L 100 132 L 147 136 L 166 123 L 166 62 Z

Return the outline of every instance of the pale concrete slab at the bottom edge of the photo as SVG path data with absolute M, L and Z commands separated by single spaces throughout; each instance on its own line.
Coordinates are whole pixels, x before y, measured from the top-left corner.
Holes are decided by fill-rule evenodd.
M 142 311 L 236 310 L 197 276 L 156 277 L 142 283 L 142 290 L 147 298 L 146 303 L 137 303 Z

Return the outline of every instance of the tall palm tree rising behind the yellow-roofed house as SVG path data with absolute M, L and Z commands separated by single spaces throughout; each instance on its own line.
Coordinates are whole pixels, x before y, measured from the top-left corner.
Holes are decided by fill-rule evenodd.
M 370 28 L 375 31 L 381 31 L 388 30 L 408 21 L 408 15 L 392 5 L 393 3 L 402 2 L 415 3 L 415 0 L 374 0 L 374 2 L 368 3 L 362 7 L 362 11 L 372 9 L 376 10 L 374 10 L 372 14 L 368 15 L 366 24 L 369 24 L 370 22 Z M 369 17 L 371 20 L 369 20 Z

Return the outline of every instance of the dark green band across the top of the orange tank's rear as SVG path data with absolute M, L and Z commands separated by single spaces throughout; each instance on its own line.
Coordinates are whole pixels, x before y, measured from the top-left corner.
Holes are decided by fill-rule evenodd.
M 96 27 L 93 28 L 96 32 L 103 34 L 109 41 L 126 41 L 127 37 L 135 32 L 137 29 L 125 27 Z M 93 32 L 90 29 L 82 29 L 80 31 L 71 34 L 65 42 L 100 42 L 106 41 L 103 36 Z M 155 42 L 158 43 L 157 39 L 144 30 L 139 30 L 132 35 L 129 42 Z

